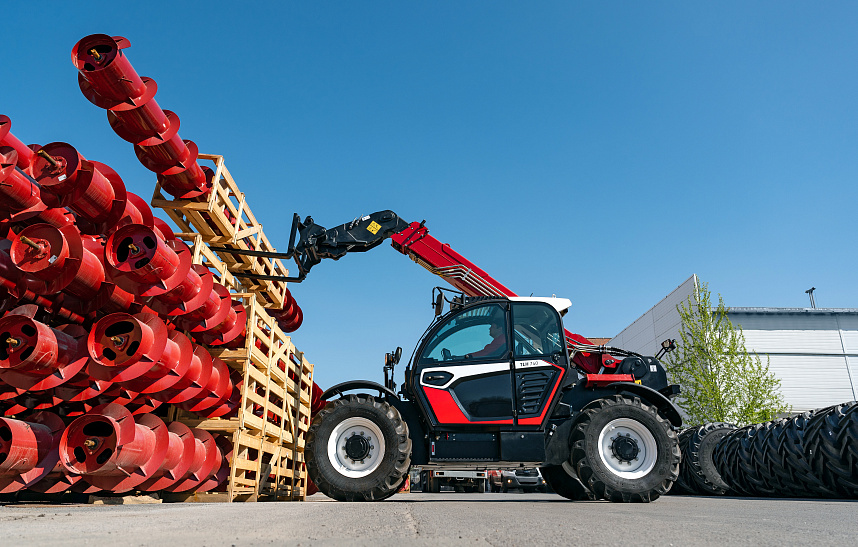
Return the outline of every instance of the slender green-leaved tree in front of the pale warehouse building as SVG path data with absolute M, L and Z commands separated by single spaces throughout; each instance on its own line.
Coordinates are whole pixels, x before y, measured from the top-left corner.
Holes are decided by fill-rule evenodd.
M 707 283 L 677 306 L 682 319 L 680 343 L 668 354 L 671 382 L 682 386 L 677 402 L 689 425 L 729 422 L 760 423 L 789 412 L 780 393 L 780 380 L 756 353 L 745 349 L 741 326 L 727 317 L 729 308 L 718 295 L 712 307 Z

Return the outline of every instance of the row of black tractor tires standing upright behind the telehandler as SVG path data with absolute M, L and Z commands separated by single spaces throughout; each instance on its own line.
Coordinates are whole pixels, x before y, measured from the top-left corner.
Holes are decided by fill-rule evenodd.
M 858 402 L 684 430 L 678 494 L 858 498 Z

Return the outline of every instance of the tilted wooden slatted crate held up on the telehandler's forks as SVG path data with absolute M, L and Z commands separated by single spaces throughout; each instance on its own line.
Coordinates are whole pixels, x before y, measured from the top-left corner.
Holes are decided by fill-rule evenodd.
M 152 206 L 163 209 L 185 235 L 194 234 L 208 245 L 232 249 L 276 252 L 253 216 L 245 195 L 224 164 L 223 156 L 200 154 L 199 159 L 214 162 L 214 188 L 208 201 L 167 199 L 156 184 Z M 289 270 L 279 259 L 251 257 L 218 251 L 219 261 L 230 272 L 255 275 L 288 276 Z M 257 295 L 270 308 L 283 307 L 286 283 L 283 281 L 238 278 L 246 292 Z

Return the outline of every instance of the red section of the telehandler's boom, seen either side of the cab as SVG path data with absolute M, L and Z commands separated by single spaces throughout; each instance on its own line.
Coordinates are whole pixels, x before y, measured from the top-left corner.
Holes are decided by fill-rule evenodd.
M 441 243 L 423 223 L 412 222 L 408 228 L 390 238 L 394 249 L 408 255 L 429 272 L 441 277 L 468 296 L 518 296 L 476 264 Z M 566 332 L 566 344 L 574 350 L 572 360 L 585 372 L 597 374 L 602 368 L 602 356 L 581 352 L 574 344 L 592 344 L 580 334 Z

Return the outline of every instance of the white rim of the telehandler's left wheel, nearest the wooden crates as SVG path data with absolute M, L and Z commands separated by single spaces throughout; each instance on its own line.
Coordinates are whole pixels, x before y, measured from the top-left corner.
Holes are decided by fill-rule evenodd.
M 360 438 L 351 439 L 353 436 Z M 347 450 L 347 446 L 350 450 Z M 355 446 L 365 447 L 357 451 Z M 357 479 L 378 469 L 384 458 L 384 435 L 370 419 L 354 417 L 337 424 L 328 439 L 328 459 L 340 474 Z M 349 453 L 351 452 L 351 455 Z

